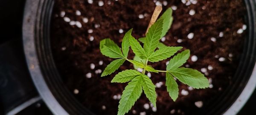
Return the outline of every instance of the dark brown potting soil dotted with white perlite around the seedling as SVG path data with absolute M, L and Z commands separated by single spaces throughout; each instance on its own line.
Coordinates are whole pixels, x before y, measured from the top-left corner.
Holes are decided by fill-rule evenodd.
M 156 3 L 153 0 L 102 0 L 103 6 L 99 0 L 93 0 L 92 4 L 88 1 L 55 0 L 51 44 L 56 66 L 67 88 L 95 114 L 116 115 L 119 95 L 127 83 L 110 81 L 118 72 L 133 69 L 125 62 L 112 75 L 101 78 L 100 72 L 113 59 L 101 54 L 99 41 L 111 38 L 121 46 L 122 37 L 131 28 L 134 37 L 144 37 L 156 3 L 163 3 L 163 11 L 171 6 L 175 9 L 172 28 L 166 39 L 162 39 L 163 43 L 190 49 L 198 60 L 194 62 L 189 58 L 184 66 L 204 72 L 212 85 L 207 89 L 191 89 L 177 81 L 180 93 L 173 102 L 166 91 L 165 73 L 151 73 L 151 80 L 158 86 L 157 109 L 147 109 L 145 103 L 150 103 L 143 94 L 128 115 L 192 115 L 232 85 L 246 35 L 243 0 L 198 0 L 197 3 L 191 0 L 195 4 L 190 5 L 186 0 L 186 3 L 168 0 L 167 4 L 162 0 Z M 188 39 L 188 36 L 193 37 Z M 131 50 L 129 54 L 128 58 L 132 59 Z M 168 60 L 150 64 L 165 70 Z

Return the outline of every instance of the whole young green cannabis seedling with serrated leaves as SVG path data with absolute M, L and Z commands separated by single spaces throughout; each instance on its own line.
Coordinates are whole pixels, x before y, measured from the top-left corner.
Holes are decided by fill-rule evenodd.
M 179 94 L 178 85 L 175 78 L 180 82 L 187 84 L 195 89 L 206 88 L 209 86 L 208 80 L 201 72 L 195 69 L 184 68 L 182 66 L 189 58 L 190 51 L 184 50 L 183 52 L 175 55 L 170 59 L 166 70 L 156 70 L 152 66 L 148 65 L 148 61 L 154 63 L 161 60 L 165 60 L 174 55 L 182 47 L 165 46 L 160 43 L 159 40 L 166 35 L 172 25 L 172 9 L 167 9 L 163 15 L 154 23 L 149 29 L 146 36 L 139 40 L 143 43 L 143 47 L 140 45 L 132 35 L 132 29 L 130 29 L 122 40 L 122 51 L 119 46 L 116 45 L 111 39 L 104 39 L 100 41 L 100 51 L 103 55 L 109 58 L 116 58 L 113 60 L 104 70 L 101 77 L 110 75 L 115 72 L 125 60 L 133 63 L 134 66 L 142 68 L 143 72 L 138 72 L 134 69 L 124 70 L 119 72 L 111 83 L 125 83 L 129 82 L 122 92 L 121 99 L 118 106 L 118 115 L 124 115 L 134 105 L 135 101 L 140 98 L 140 95 L 144 91 L 149 101 L 156 107 L 157 94 L 155 91 L 155 85 L 151 79 L 145 75 L 145 72 L 166 72 L 166 86 L 170 97 L 175 101 Z M 135 53 L 134 59 L 128 59 L 129 49 Z M 157 50 L 156 50 L 157 49 Z

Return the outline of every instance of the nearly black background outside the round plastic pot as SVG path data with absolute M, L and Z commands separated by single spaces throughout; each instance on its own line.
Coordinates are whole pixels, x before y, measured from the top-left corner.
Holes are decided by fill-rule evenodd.
M 38 97 L 26 68 L 22 46 L 22 19 L 25 0 L 0 0 L 0 115 Z M 238 115 L 254 115 L 256 91 Z M 38 101 L 18 115 L 51 115 Z

